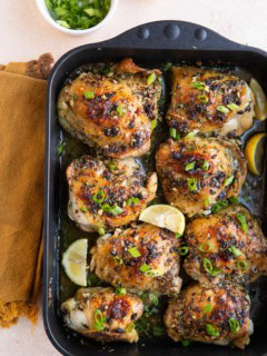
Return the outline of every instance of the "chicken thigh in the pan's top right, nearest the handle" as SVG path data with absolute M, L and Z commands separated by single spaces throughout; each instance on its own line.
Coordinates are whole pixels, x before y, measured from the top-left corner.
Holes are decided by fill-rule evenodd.
M 172 67 L 170 127 L 240 136 L 253 126 L 255 99 L 240 78 L 197 67 Z

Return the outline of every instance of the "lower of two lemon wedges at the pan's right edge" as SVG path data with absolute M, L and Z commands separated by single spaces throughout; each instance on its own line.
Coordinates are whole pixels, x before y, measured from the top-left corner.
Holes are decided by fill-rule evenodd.
M 263 172 L 266 137 L 265 132 L 254 135 L 245 147 L 248 169 L 256 176 L 260 176 Z

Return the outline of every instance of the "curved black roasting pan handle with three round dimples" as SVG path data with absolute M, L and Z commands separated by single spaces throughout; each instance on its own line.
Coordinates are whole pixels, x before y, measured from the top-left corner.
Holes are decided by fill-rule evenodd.
M 145 23 L 106 41 L 105 46 L 182 50 L 241 50 L 246 48 L 202 26 L 185 21 Z

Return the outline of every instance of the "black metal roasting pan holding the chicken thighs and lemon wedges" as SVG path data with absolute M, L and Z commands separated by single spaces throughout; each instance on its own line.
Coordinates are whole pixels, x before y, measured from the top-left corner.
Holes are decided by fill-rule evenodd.
M 164 339 L 160 343 L 152 340 L 140 342 L 137 345 L 109 344 L 102 346 L 95 342 L 85 342 L 63 327 L 59 315 L 59 229 L 62 172 L 60 170 L 60 159 L 57 155 L 58 137 L 61 130 L 57 120 L 57 98 L 68 75 L 76 68 L 89 62 L 119 60 L 125 57 L 131 57 L 145 66 L 146 63 L 170 61 L 241 67 L 250 72 L 267 92 L 266 52 L 235 43 L 207 28 L 189 22 L 158 21 L 146 23 L 111 40 L 78 47 L 60 58 L 51 72 L 47 97 L 43 260 L 43 320 L 47 335 L 62 355 L 72 356 L 108 354 L 116 356 L 267 356 L 267 277 L 261 277 L 257 287 L 255 287 L 256 297 L 260 289 L 256 309 L 253 310 L 256 318 L 256 329 L 250 345 L 245 350 L 200 344 L 182 347 L 172 343 L 171 339 Z M 264 122 L 258 122 L 254 127 L 254 132 L 263 130 L 266 130 Z M 261 220 L 265 220 L 266 217 L 267 199 L 263 199 L 266 192 L 265 186 L 266 180 L 263 179 L 259 191 L 260 198 L 258 199 L 259 206 L 256 211 L 253 211 Z M 264 231 L 266 234 L 265 224 Z M 257 304 L 260 304 L 259 309 L 257 309 Z

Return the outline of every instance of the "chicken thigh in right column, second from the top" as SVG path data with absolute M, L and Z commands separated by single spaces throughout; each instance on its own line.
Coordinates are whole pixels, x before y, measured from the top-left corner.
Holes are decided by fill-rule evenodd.
M 156 166 L 166 199 L 188 216 L 237 197 L 247 174 L 239 147 L 218 138 L 169 139 L 159 147 Z

